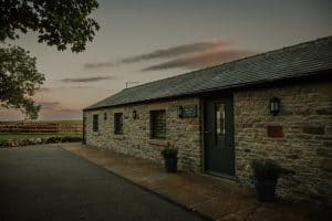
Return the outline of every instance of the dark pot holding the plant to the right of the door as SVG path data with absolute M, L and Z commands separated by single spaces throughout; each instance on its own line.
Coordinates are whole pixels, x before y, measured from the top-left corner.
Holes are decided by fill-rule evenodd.
M 272 201 L 276 196 L 277 179 L 255 180 L 255 189 L 259 201 Z

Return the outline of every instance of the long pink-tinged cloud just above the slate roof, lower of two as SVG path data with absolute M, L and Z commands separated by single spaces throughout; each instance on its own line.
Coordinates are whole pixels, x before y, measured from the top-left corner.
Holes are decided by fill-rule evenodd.
M 176 67 L 201 69 L 240 59 L 252 53 L 253 52 L 246 50 L 216 49 L 208 52 L 193 53 L 179 56 L 170 61 L 145 67 L 142 71 L 159 71 Z

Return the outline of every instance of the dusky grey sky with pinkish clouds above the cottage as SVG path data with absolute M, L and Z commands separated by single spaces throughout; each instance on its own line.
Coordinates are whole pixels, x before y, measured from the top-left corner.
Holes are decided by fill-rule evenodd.
M 8 42 L 38 59 L 45 83 L 40 119 L 81 119 L 81 109 L 129 86 L 332 34 L 331 0 L 104 0 L 86 50 Z M 169 85 L 172 86 L 172 85 Z M 0 109 L 0 120 L 22 119 Z

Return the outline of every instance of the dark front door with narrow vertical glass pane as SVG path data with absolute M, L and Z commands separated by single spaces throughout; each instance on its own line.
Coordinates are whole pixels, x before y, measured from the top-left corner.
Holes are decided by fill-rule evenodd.
M 205 99 L 205 169 L 209 173 L 234 177 L 234 116 L 232 99 Z

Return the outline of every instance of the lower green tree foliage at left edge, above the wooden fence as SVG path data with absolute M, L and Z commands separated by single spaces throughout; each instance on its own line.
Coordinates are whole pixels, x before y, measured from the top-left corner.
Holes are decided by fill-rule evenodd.
M 35 57 L 19 46 L 0 49 L 0 101 L 1 106 L 19 108 L 29 118 L 37 118 L 40 105 L 31 96 L 44 81 L 35 67 Z

